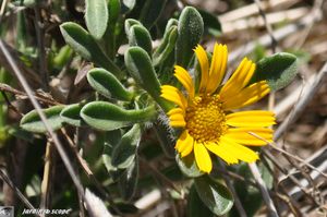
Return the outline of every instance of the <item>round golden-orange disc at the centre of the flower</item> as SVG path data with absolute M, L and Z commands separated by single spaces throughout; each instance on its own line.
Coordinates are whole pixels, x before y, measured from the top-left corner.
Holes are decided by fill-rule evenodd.
M 186 110 L 186 129 L 196 142 L 217 142 L 227 130 L 219 95 L 197 96 Z

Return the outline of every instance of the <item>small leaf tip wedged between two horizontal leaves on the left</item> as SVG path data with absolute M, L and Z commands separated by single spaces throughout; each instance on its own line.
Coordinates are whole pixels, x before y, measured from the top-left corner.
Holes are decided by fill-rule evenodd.
M 82 108 L 83 108 L 82 104 L 69 105 L 64 109 L 62 109 L 62 111 L 60 112 L 60 117 L 65 123 L 69 123 L 77 128 L 82 126 L 83 120 L 80 116 Z

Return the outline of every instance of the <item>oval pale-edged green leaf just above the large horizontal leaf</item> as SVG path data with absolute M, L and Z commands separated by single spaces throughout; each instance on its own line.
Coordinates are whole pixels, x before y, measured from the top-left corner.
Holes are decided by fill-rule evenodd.
M 95 68 L 88 71 L 87 81 L 99 94 L 108 98 L 130 101 L 133 93 L 129 92 L 113 74 L 107 70 Z

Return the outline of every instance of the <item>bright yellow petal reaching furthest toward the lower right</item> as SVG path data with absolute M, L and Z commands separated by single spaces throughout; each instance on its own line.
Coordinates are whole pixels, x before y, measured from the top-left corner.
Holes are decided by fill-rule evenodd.
M 245 162 L 254 162 L 258 159 L 258 156 L 255 152 L 245 147 L 243 145 L 238 144 L 231 138 L 227 138 L 226 136 L 220 137 L 220 143 L 222 148 L 233 155 L 235 158 L 243 160 Z

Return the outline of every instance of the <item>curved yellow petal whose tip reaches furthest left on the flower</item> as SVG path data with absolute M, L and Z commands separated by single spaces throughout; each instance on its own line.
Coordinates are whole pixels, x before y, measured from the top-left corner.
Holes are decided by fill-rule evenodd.
M 187 101 L 184 95 L 174 86 L 170 85 L 162 85 L 161 86 L 161 95 L 162 98 L 174 103 L 175 105 L 180 106 L 183 110 L 187 106 Z

